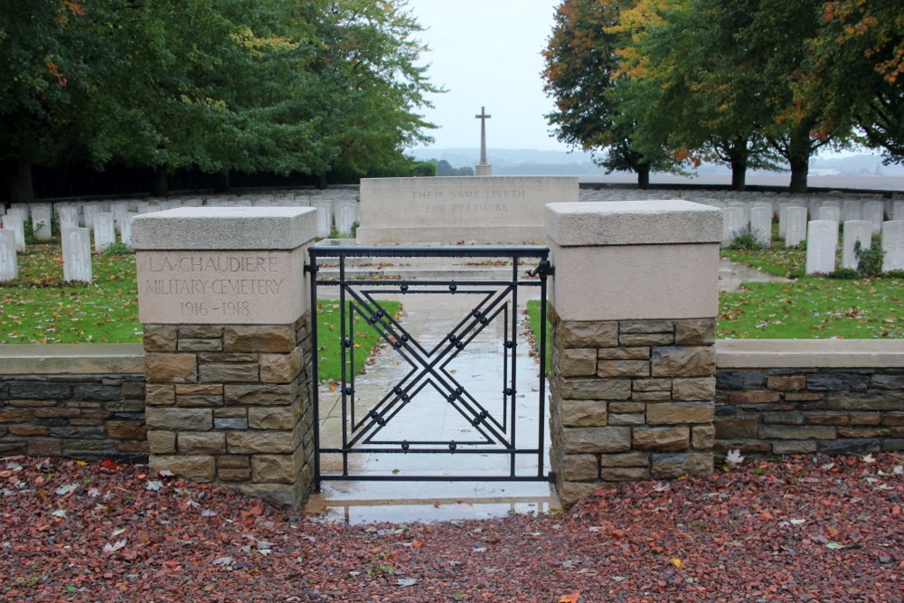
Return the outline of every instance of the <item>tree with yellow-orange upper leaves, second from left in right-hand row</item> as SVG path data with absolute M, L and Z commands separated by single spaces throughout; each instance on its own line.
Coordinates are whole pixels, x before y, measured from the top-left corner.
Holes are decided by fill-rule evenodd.
M 742 190 L 748 168 L 775 169 L 776 157 L 758 80 L 718 11 L 693 0 L 641 0 L 626 11 L 613 28 L 626 34 L 618 53 L 630 76 L 619 106 L 639 125 L 637 146 L 666 140 L 676 160 L 729 165 L 732 188 Z

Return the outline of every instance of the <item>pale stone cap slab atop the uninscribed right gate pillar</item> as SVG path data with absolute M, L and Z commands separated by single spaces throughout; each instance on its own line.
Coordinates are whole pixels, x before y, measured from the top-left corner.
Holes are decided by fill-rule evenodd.
M 681 199 L 550 203 L 546 234 L 561 247 L 718 243 L 722 212 Z

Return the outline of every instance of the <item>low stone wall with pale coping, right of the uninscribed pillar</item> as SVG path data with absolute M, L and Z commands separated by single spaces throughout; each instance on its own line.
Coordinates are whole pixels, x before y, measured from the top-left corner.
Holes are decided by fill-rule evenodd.
M 904 341 L 716 344 L 717 452 L 904 450 Z

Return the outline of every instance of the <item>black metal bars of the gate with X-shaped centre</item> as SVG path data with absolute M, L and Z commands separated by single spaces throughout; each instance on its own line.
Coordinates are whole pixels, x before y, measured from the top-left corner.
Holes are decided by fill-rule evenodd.
M 545 391 L 546 391 L 546 329 L 541 329 L 539 337 L 539 353 L 540 353 L 540 378 L 539 378 L 539 395 L 538 395 L 538 415 L 539 415 L 539 439 L 537 448 L 517 448 L 515 429 L 515 396 L 516 390 L 514 380 L 517 369 L 517 356 L 512 352 L 509 357 L 509 351 L 514 350 L 517 345 L 518 337 L 518 290 L 519 287 L 540 287 L 541 296 L 541 325 L 546 324 L 546 306 L 547 306 L 547 278 L 551 276 L 553 270 L 549 261 L 550 250 L 545 247 L 393 247 L 393 248 L 372 248 L 372 247 L 311 247 L 309 249 L 310 262 L 305 266 L 306 273 L 310 276 L 311 290 L 311 337 L 313 347 L 313 366 L 312 366 L 312 382 L 313 382 L 313 411 L 315 417 L 315 487 L 320 490 L 322 481 L 325 480 L 362 480 L 362 481 L 550 481 L 551 475 L 545 475 L 543 472 L 543 452 L 545 443 Z M 317 273 L 321 269 L 318 266 L 317 259 L 334 258 L 338 260 L 338 278 L 325 279 L 318 281 Z M 345 278 L 346 260 L 352 258 L 496 258 L 511 259 L 513 262 L 512 276 L 509 279 L 475 279 L 475 280 L 443 280 L 443 279 L 424 279 L 424 280 L 388 280 L 379 278 Z M 523 278 L 519 278 L 519 260 L 536 259 L 538 261 L 536 267 L 530 271 L 525 271 Z M 343 446 L 342 448 L 321 448 L 320 446 L 320 404 L 318 395 L 318 334 L 317 334 L 317 287 L 336 286 L 339 287 L 339 306 L 341 321 L 341 349 L 342 349 L 342 421 L 343 421 Z M 485 293 L 484 301 L 480 302 L 474 310 L 466 315 L 458 323 L 447 337 L 441 341 L 433 350 L 428 351 L 422 347 L 419 342 L 410 337 L 410 335 L 401 327 L 401 325 L 389 316 L 375 301 L 370 294 L 364 291 L 354 291 L 353 287 L 377 287 L 386 293 L 416 295 L 426 293 L 450 293 L 455 294 L 458 287 L 502 287 L 501 290 L 494 295 L 494 291 L 474 290 L 473 293 Z M 425 287 L 425 290 L 418 290 L 419 287 Z M 432 290 L 430 289 L 432 287 Z M 446 287 L 445 290 L 438 290 L 438 287 Z M 507 316 L 508 304 L 506 303 L 511 296 L 512 316 Z M 348 299 L 351 297 L 351 299 Z M 487 300 L 494 297 L 489 306 L 481 309 Z M 346 302 L 349 302 L 347 305 Z M 373 306 L 369 306 L 371 303 Z M 496 307 L 498 306 L 498 307 Z M 372 410 L 366 413 L 360 420 L 354 417 L 354 387 L 353 375 L 351 376 L 351 384 L 349 375 L 346 374 L 346 360 L 350 354 L 353 358 L 353 334 L 346 331 L 346 309 L 349 311 L 357 311 L 366 318 L 366 322 L 376 330 L 383 341 L 400 353 L 401 357 L 410 363 L 411 371 L 391 389 L 383 399 L 376 404 Z M 504 382 L 507 383 L 504 395 L 503 415 L 504 422 L 500 423 L 496 418 L 490 415 L 487 410 L 471 396 L 466 388 L 456 382 L 451 374 L 446 372 L 444 367 L 451 362 L 455 356 L 465 349 L 485 325 L 500 313 L 505 312 L 505 343 L 504 343 Z M 473 334 L 471 332 L 474 332 Z M 466 335 L 459 337 L 458 332 Z M 440 351 L 440 348 L 445 349 Z M 406 353 L 408 354 L 406 356 Z M 439 353 L 438 357 L 434 357 Z M 412 360 L 413 359 L 413 360 Z M 443 363 L 445 361 L 445 363 Z M 509 374 L 509 365 L 511 364 L 511 375 Z M 429 375 L 428 382 L 436 380 L 445 390 L 440 391 L 443 395 L 447 395 L 447 401 L 456 408 L 456 410 L 478 430 L 478 432 L 487 436 L 492 436 L 498 440 L 497 444 L 502 444 L 501 448 L 472 448 L 485 445 L 490 442 L 456 442 L 450 441 L 412 441 L 407 440 L 398 442 L 385 442 L 392 444 L 392 448 L 361 448 L 356 447 L 359 440 L 367 433 L 368 429 L 376 426 L 379 431 L 383 425 L 392 419 L 406 404 L 414 400 L 417 393 L 428 385 L 423 383 L 416 389 L 410 391 L 414 385 L 417 385 L 424 375 Z M 411 384 L 402 387 L 405 382 L 410 381 L 410 377 L 416 375 Z M 437 383 L 430 383 L 434 388 L 438 389 Z M 438 390 L 439 391 L 439 390 Z M 350 401 L 351 400 L 351 401 Z M 390 401 L 387 401 L 390 400 Z M 398 409 L 394 407 L 398 406 Z M 382 407 L 382 408 L 381 408 Z M 351 409 L 351 413 L 349 412 Z M 381 410 L 378 410 L 381 409 Z M 466 414 L 467 413 L 467 414 Z M 351 414 L 351 432 L 348 428 L 347 419 Z M 509 415 L 511 415 L 509 417 Z M 509 426 L 505 422 L 511 419 Z M 483 426 L 483 427 L 482 427 Z M 510 433 L 506 433 L 510 428 Z M 356 429 L 363 429 L 362 435 L 350 440 L 349 436 Z M 372 435 L 375 435 L 372 434 Z M 372 436 L 370 437 L 372 438 Z M 366 443 L 370 438 L 363 439 Z M 381 442 L 384 443 L 384 442 Z M 446 448 L 428 448 L 429 446 L 445 446 Z M 466 447 L 466 448 L 463 448 Z M 367 454 L 371 452 L 379 453 L 397 453 L 397 454 L 497 454 L 509 455 L 511 460 L 509 464 L 509 475 L 480 475 L 480 476 L 388 476 L 388 475 L 354 475 L 349 473 L 348 459 L 353 454 Z M 343 456 L 343 473 L 342 474 L 321 474 L 320 456 L 326 453 L 339 453 Z M 537 457 L 537 471 L 535 475 L 516 476 L 515 475 L 515 458 L 518 456 L 535 455 Z

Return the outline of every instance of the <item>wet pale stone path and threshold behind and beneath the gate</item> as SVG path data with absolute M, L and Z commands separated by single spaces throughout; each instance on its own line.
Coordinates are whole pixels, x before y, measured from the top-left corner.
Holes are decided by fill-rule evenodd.
M 424 262 L 429 265 L 431 262 Z M 534 262 L 536 263 L 536 262 Z M 436 270 L 427 271 L 427 278 L 438 278 L 437 271 L 442 271 L 440 262 L 432 262 Z M 498 267 L 493 267 L 498 269 Z M 522 272 L 529 267 L 525 266 Z M 466 269 L 466 268 L 463 268 Z M 480 268 L 478 268 L 480 269 Z M 506 270 L 511 278 L 511 264 Z M 324 277 L 323 270 L 319 273 Z M 473 279 L 474 270 L 470 273 Z M 329 278 L 329 277 L 327 277 Z M 483 277 L 480 277 L 483 278 Z M 334 287 L 320 287 L 329 291 Z M 541 364 L 530 355 L 530 346 L 523 338 L 522 312 L 528 297 L 539 298 L 539 287 L 533 287 L 528 294 L 524 292 L 517 298 L 515 315 L 519 328 L 517 346 L 514 349 L 514 363 L 517 366 L 514 381 L 514 414 L 517 419 L 518 448 L 538 446 L 541 429 L 548 423 L 548 413 L 538 412 L 540 398 L 546 399 L 546 387 L 540 391 L 539 372 Z M 448 334 L 462 320 L 469 316 L 475 307 L 475 296 L 462 295 L 387 295 L 373 294 L 381 299 L 391 298 L 403 304 L 399 319 L 400 326 L 411 339 L 416 340 L 423 348 L 432 350 L 447 341 Z M 329 291 L 329 298 L 336 298 L 335 291 Z M 455 359 L 448 363 L 446 370 L 450 377 L 460 380 L 466 390 L 481 400 L 501 399 L 500 383 L 504 382 L 508 368 L 504 365 L 500 354 L 500 342 L 504 341 L 506 331 L 511 331 L 511 320 L 497 316 L 468 341 Z M 375 362 L 367 366 L 366 373 L 356 377 L 354 381 L 356 419 L 378 407 L 387 391 L 394 384 L 403 382 L 411 371 L 411 364 L 390 344 L 383 344 L 381 353 Z M 334 384 L 335 385 L 335 384 Z M 324 384 L 319 391 L 319 427 L 321 448 L 342 448 L 343 421 L 346 427 L 351 423 L 350 412 L 346 408 L 343 414 L 343 395 L 341 387 L 330 387 Z M 422 441 L 459 441 L 476 439 L 475 426 L 463 419 L 462 414 L 450 406 L 448 400 L 433 392 L 421 391 L 419 397 L 413 399 L 409 408 L 400 412 L 394 421 L 397 425 L 395 438 L 420 438 Z M 499 411 L 501 409 L 489 408 Z M 391 423 L 391 421 L 390 421 Z M 390 429 L 388 423 L 387 429 Z M 347 433 L 347 430 L 346 430 Z M 330 517 L 343 517 L 346 521 L 376 521 L 378 519 L 400 520 L 432 520 L 452 519 L 456 517 L 480 517 L 487 514 L 505 514 L 510 512 L 542 512 L 558 507 L 557 499 L 552 494 L 551 485 L 547 481 L 538 481 L 538 462 L 541 476 L 549 473 L 548 437 L 542 441 L 541 455 L 525 455 L 516 457 L 516 473 L 519 476 L 534 475 L 534 481 L 489 481 L 482 476 L 504 476 L 510 469 L 511 455 L 500 454 L 386 454 L 378 451 L 360 455 L 349 455 L 345 467 L 352 476 L 364 481 L 325 480 L 321 485 L 321 493 L 314 495 L 307 505 L 309 511 L 327 510 Z M 423 448 L 423 447 L 422 447 Z M 466 448 L 463 446 L 462 448 Z M 325 453 L 320 457 L 321 474 L 343 475 L 343 455 Z M 430 476 L 430 481 L 404 481 L 406 476 Z M 462 480 L 468 476 L 469 481 Z M 397 477 L 398 479 L 392 479 Z M 389 478 L 391 481 L 367 481 L 372 478 Z

